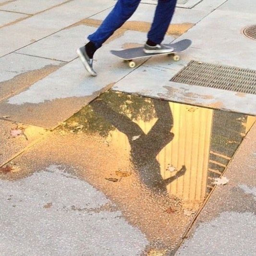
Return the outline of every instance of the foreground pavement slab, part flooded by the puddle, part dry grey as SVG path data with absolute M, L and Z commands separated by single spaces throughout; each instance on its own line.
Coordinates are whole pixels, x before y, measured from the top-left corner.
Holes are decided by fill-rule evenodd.
M 5 222 L 2 235 L 9 240 L 10 229 L 24 230 L 11 239 L 15 252 L 21 241 L 31 241 L 44 229 L 46 237 L 22 247 L 24 254 L 38 244 L 45 255 L 94 250 L 117 255 L 116 246 L 128 246 L 137 237 L 137 245 L 132 243 L 129 252 L 130 245 L 124 246 L 121 255 L 171 255 L 254 121 L 238 113 L 108 91 L 15 158 L 21 171 L 1 174 L 2 200 L 7 200 L 1 218 L 10 209 L 16 216 Z M 23 195 L 25 188 L 28 195 Z M 85 198 L 94 198 L 98 206 Z M 34 216 L 28 225 L 24 211 Z M 91 238 L 83 235 L 85 230 Z M 84 245 L 92 247 L 82 246 L 83 236 Z

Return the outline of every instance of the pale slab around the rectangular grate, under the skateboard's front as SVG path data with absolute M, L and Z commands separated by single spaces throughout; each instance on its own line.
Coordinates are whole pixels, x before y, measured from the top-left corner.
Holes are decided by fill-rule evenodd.
M 181 61 L 174 62 L 165 56 L 151 58 L 119 81 L 113 89 L 256 115 L 255 95 L 170 82 L 171 78 L 191 60 L 256 70 L 255 41 L 241 33 L 246 25 L 251 24 L 254 16 L 244 16 L 238 12 L 212 12 L 177 39 L 178 41 L 189 38 L 193 42 L 191 48 L 180 54 Z M 223 19 L 225 23 L 222 22 Z

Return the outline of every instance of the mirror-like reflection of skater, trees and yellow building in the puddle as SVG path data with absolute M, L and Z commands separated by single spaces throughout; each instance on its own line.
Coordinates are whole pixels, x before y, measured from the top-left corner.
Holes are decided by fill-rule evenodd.
M 67 122 L 83 124 L 121 152 L 138 179 L 197 209 L 225 170 L 255 118 L 108 92 Z M 121 159 L 122 160 L 122 159 Z

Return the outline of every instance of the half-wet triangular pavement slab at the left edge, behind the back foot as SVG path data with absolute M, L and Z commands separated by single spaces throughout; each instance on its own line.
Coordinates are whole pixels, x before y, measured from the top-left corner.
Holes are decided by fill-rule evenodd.
M 0 58 L 0 101 L 24 90 L 63 64 L 16 53 Z

